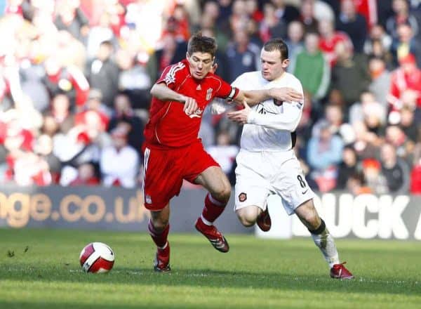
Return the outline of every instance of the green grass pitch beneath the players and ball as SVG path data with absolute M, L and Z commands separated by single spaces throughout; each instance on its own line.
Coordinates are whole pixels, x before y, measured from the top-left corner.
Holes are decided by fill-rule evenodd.
M 0 230 L 0 308 L 421 308 L 420 242 L 338 240 L 356 279 L 330 279 L 312 239 L 227 235 L 221 254 L 201 235 L 170 235 L 169 274 L 152 271 L 149 235 Z M 81 271 L 89 242 L 114 249 L 109 274 Z

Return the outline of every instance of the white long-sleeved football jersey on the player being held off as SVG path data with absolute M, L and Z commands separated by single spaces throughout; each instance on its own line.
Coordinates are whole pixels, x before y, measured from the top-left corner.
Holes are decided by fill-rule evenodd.
M 241 74 L 233 83 L 241 90 L 290 87 L 302 93 L 300 81 L 288 72 L 273 81 L 263 79 L 260 71 Z M 241 149 L 249 151 L 290 151 L 295 144 L 295 129 L 304 102 L 277 102 L 270 99 L 251 107 L 243 126 Z

